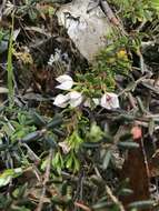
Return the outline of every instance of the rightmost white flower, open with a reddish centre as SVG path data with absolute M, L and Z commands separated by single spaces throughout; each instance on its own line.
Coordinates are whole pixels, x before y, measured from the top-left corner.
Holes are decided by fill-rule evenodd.
M 111 109 L 117 109 L 119 108 L 119 99 L 116 93 L 112 92 L 106 92 L 100 100 L 100 105 L 111 110 Z

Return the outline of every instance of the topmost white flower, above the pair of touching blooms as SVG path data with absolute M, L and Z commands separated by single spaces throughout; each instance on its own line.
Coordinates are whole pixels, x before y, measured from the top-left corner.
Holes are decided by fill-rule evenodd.
M 73 86 L 73 80 L 68 74 L 62 74 L 56 79 L 60 84 L 56 88 L 61 90 L 70 90 Z

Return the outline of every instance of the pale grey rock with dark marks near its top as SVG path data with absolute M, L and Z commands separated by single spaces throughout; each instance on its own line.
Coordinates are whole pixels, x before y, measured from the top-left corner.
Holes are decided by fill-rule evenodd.
M 57 16 L 87 60 L 91 61 L 101 48 L 110 43 L 110 38 L 107 39 L 111 32 L 110 22 L 96 1 L 93 4 L 90 0 L 73 0 L 61 6 Z

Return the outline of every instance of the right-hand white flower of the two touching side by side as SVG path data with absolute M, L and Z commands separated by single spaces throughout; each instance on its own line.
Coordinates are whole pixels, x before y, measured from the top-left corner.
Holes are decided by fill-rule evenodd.
M 72 108 L 78 107 L 83 100 L 83 97 L 80 92 L 78 91 L 71 91 L 70 92 L 70 105 Z

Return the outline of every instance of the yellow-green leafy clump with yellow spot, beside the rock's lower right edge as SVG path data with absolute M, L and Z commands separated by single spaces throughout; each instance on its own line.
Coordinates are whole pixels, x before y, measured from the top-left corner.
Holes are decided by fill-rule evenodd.
M 107 91 L 112 91 L 116 88 L 115 78 L 117 74 L 129 73 L 131 62 L 128 59 L 126 47 L 122 41 L 112 43 L 102 49 L 97 56 L 92 66 L 92 72 L 98 78 L 101 78 L 102 87 Z

